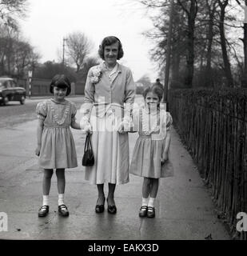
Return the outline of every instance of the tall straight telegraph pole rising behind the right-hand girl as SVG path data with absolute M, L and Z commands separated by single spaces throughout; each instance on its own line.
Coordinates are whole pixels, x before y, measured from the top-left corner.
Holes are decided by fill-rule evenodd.
M 173 12 L 174 12 L 174 0 L 170 1 L 170 13 L 169 13 L 169 30 L 167 35 L 167 51 L 166 51 L 166 62 L 165 62 L 165 90 L 163 94 L 163 102 L 166 103 L 166 110 L 168 111 L 168 82 L 169 82 L 169 62 L 171 53 L 171 40 L 173 31 Z

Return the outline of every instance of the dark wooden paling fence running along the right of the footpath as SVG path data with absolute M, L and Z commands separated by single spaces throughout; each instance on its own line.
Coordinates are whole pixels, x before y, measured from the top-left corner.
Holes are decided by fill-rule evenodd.
M 201 177 L 212 191 L 218 218 L 234 239 L 237 213 L 247 214 L 247 95 L 245 90 L 172 90 L 169 111 Z M 246 222 L 246 219 L 245 219 Z M 246 228 L 245 223 L 245 228 Z

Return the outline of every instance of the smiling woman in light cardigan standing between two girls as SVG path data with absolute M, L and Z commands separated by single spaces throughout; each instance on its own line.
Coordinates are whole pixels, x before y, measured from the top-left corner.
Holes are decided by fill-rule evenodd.
M 81 124 L 85 131 L 92 132 L 95 158 L 94 166 L 86 166 L 85 178 L 98 187 L 96 213 L 105 210 L 104 183 L 108 182 L 107 210 L 116 214 L 115 186 L 129 182 L 129 141 L 125 130 L 134 101 L 134 83 L 129 68 L 117 62 L 123 56 L 118 38 L 104 38 L 98 54 L 104 62 L 89 70 L 82 106 Z

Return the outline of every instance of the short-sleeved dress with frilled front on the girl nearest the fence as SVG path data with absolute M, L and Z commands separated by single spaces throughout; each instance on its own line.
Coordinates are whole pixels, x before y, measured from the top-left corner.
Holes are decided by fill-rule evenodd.
M 171 115 L 165 110 L 158 114 L 149 114 L 144 108 L 133 111 L 133 130 L 138 130 L 139 137 L 133 149 L 131 174 L 146 178 L 173 176 L 173 165 L 169 160 L 161 165 L 166 131 L 172 122 Z

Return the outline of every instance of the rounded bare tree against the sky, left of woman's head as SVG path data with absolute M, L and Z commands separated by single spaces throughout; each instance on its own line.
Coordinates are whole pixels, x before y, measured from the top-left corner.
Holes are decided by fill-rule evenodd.
M 90 42 L 90 39 L 86 37 L 86 34 L 81 32 L 69 34 L 66 38 L 68 46 L 67 54 L 76 65 L 76 72 L 78 73 L 78 71 L 82 69 L 86 57 L 90 54 L 93 44 Z

